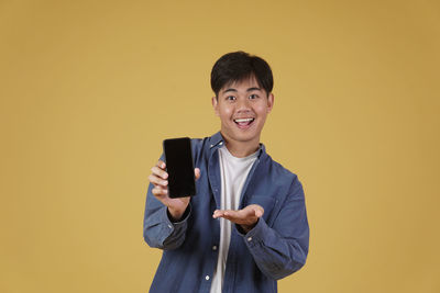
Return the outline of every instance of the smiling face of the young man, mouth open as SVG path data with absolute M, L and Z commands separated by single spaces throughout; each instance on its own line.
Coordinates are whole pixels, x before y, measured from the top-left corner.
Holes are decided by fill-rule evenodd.
M 254 77 L 227 84 L 212 98 L 221 133 L 227 140 L 257 145 L 274 95 L 258 86 Z

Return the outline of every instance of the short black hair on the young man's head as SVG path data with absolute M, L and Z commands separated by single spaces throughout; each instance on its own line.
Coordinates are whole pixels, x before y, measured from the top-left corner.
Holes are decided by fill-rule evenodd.
M 255 77 L 258 86 L 267 94 L 272 92 L 274 78 L 271 67 L 264 59 L 242 50 L 228 53 L 221 56 L 212 67 L 211 88 L 218 97 L 224 86 L 251 77 Z

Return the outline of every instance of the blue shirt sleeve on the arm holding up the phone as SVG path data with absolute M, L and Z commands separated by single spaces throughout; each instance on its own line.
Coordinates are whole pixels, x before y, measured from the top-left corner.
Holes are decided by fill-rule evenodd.
M 190 204 L 179 222 L 172 222 L 167 207 L 153 195 L 152 189 L 153 184 L 150 183 L 144 214 L 144 239 L 151 247 L 164 250 L 176 249 L 185 240 Z

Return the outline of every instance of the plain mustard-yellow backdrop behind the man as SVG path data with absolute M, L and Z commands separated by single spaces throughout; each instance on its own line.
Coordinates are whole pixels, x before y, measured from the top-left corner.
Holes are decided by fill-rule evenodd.
M 0 292 L 146 292 L 150 168 L 219 129 L 209 75 L 274 70 L 262 140 L 304 183 L 279 292 L 440 292 L 438 1 L 0 1 Z

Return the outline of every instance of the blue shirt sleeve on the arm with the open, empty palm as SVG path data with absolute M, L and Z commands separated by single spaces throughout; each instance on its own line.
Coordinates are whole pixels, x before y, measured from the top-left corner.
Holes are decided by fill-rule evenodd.
M 237 225 L 235 225 L 237 226 Z M 286 202 L 272 227 L 261 217 L 250 232 L 243 234 L 249 251 L 260 270 L 278 280 L 299 270 L 309 246 L 309 225 L 301 183 L 295 178 Z

